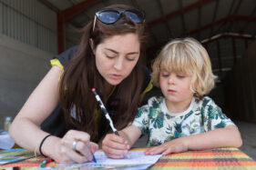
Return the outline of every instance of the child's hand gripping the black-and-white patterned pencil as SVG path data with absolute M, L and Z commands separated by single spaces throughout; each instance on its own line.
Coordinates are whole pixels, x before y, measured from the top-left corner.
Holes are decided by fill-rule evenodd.
M 102 141 L 102 150 L 105 155 L 111 158 L 123 158 L 128 155 L 128 141 L 122 136 L 108 134 Z

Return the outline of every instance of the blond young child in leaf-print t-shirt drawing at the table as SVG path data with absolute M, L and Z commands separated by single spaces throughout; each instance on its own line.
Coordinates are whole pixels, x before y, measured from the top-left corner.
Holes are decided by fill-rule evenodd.
M 210 58 L 193 38 L 175 39 L 153 64 L 153 84 L 163 96 L 154 96 L 138 109 L 131 125 L 119 135 L 107 135 L 102 149 L 108 157 L 121 158 L 141 134 L 148 134 L 145 155 L 168 155 L 215 147 L 240 147 L 236 125 L 205 96 L 214 86 Z

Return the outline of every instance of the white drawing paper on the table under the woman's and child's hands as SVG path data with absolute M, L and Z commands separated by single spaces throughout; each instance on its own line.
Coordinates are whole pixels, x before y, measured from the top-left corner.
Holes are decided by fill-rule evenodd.
M 85 167 L 101 167 L 101 168 L 124 168 L 124 169 L 147 169 L 150 165 L 154 165 L 161 155 L 144 155 L 144 151 L 129 151 L 130 158 L 111 159 L 108 158 L 102 151 L 97 151 L 95 154 L 97 163 L 85 164 L 60 164 L 60 167 L 67 169 Z

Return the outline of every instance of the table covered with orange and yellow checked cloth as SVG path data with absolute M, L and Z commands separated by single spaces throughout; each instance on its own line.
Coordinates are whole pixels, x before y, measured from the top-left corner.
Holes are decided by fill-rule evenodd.
M 145 148 L 134 148 L 134 150 L 145 150 Z M 44 156 L 37 156 L 22 162 L 2 165 L 0 169 L 19 166 L 22 169 L 30 167 L 36 169 L 45 160 Z M 57 165 L 50 163 L 47 166 Z M 31 168 L 34 167 L 34 168 Z M 150 167 L 150 170 L 158 169 L 256 169 L 256 162 L 250 156 L 242 153 L 237 148 L 217 148 L 203 151 L 189 151 L 179 154 L 162 156 L 159 161 Z

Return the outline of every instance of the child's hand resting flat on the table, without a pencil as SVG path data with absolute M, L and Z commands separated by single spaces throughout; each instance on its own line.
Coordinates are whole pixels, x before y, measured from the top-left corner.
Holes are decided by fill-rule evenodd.
M 180 137 L 162 145 L 150 147 L 147 151 L 145 151 L 145 155 L 168 155 L 171 153 L 180 153 L 185 151 L 188 151 L 186 139 L 184 140 L 183 137 Z

